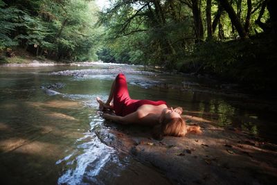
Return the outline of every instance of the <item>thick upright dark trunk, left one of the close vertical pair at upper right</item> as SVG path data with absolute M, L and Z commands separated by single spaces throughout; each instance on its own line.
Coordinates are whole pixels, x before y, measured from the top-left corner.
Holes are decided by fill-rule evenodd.
M 197 42 L 199 42 L 204 37 L 200 3 L 199 3 L 199 0 L 192 0 L 192 3 L 193 3 L 193 22 L 195 25 L 195 36 L 196 36 Z

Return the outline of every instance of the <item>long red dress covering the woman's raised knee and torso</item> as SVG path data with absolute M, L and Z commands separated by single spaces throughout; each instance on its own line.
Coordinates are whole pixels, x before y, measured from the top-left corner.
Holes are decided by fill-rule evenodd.
M 127 89 L 127 82 L 125 75 L 119 73 L 116 76 L 116 84 L 114 90 L 114 111 L 118 116 L 126 116 L 141 107 L 141 105 L 162 105 L 166 104 L 163 100 L 152 101 L 152 100 L 132 100 L 129 97 L 129 91 Z

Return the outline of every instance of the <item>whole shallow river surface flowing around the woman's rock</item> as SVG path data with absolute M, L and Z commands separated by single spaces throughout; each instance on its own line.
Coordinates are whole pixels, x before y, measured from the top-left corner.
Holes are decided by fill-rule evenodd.
M 276 143 L 274 100 L 231 98 L 207 91 L 208 85 L 214 85 L 210 82 L 142 75 L 130 70 L 134 68 L 113 64 L 0 67 L 1 184 L 157 184 L 157 179 L 168 184 L 163 175 L 105 145 L 94 132 L 104 127 L 95 99 L 107 99 L 116 73 L 125 69 L 133 98 L 166 100 L 168 105 L 184 107 L 185 114 Z M 94 69 L 95 73 L 50 75 L 81 69 Z M 55 83 L 64 87 L 45 89 Z M 184 84 L 184 89 L 168 84 Z

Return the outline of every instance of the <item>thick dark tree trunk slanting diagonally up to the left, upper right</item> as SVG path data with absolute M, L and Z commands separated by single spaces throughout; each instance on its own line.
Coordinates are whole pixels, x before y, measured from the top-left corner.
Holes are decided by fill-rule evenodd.
M 228 0 L 219 0 L 222 4 L 222 7 L 226 10 L 226 12 L 229 15 L 229 18 L 231 19 L 232 24 L 235 26 L 235 29 L 238 31 L 238 35 L 242 39 L 247 37 L 247 33 L 245 32 L 242 24 L 240 23 L 240 20 L 238 19 L 238 16 L 235 14 L 235 11 L 233 10 L 233 7 L 229 3 Z

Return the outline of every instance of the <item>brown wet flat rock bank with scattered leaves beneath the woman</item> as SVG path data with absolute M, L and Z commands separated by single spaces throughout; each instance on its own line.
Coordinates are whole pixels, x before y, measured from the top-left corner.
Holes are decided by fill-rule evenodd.
M 240 130 L 194 121 L 194 116 L 184 118 L 200 125 L 203 133 L 157 141 L 149 127 L 109 122 L 93 132 L 108 146 L 163 171 L 173 184 L 276 183 L 276 145 Z

